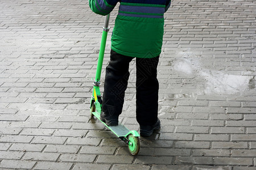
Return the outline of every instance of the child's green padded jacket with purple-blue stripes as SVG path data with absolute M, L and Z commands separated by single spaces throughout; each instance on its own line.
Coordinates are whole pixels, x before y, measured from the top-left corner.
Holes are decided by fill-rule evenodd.
M 108 15 L 117 0 L 89 0 L 93 12 Z M 163 44 L 164 12 L 170 0 L 121 0 L 111 39 L 111 48 L 125 56 L 153 58 Z

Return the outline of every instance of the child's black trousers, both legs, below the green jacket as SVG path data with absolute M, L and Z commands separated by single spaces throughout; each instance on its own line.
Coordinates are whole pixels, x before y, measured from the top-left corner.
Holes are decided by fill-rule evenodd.
M 102 111 L 109 116 L 118 117 L 122 113 L 130 76 L 129 63 L 133 58 L 111 50 L 102 104 Z M 158 119 L 158 62 L 159 56 L 136 58 L 136 118 L 139 125 L 153 125 Z

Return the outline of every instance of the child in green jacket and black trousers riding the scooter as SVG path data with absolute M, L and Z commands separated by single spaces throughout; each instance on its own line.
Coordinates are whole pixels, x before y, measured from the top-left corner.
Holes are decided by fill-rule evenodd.
M 89 0 L 92 11 L 108 15 L 117 0 Z M 171 0 L 121 0 L 106 67 L 101 121 L 118 125 L 129 79 L 129 63 L 136 58 L 136 118 L 142 136 L 160 128 L 157 66 L 163 42 L 164 12 Z

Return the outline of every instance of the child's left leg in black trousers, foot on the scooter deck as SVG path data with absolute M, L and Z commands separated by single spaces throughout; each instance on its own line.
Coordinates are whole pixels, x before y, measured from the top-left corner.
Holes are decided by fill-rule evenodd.
M 111 50 L 110 62 L 106 67 L 101 120 L 118 124 L 122 113 L 125 90 L 129 79 L 129 63 L 133 57 L 123 56 Z

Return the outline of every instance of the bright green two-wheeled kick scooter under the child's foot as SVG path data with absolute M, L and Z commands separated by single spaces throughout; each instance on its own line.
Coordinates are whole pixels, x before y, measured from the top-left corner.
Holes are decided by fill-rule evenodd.
M 103 27 L 102 37 L 101 37 L 101 46 L 100 53 L 98 56 L 98 65 L 96 70 L 96 78 L 93 83 L 93 94 L 90 100 L 90 116 L 96 117 L 100 120 L 101 107 L 102 107 L 102 97 L 100 92 L 100 77 L 101 69 L 104 58 L 104 52 L 106 47 L 106 38 L 109 31 L 109 17 L 110 14 L 106 15 L 105 24 Z M 100 120 L 101 121 L 101 120 Z M 101 121 L 102 122 L 102 121 Z M 135 130 L 129 130 L 124 125 L 119 124 L 118 126 L 108 126 L 105 122 L 102 122 L 108 129 L 110 129 L 118 138 L 124 141 L 128 145 L 129 152 L 131 155 L 137 155 L 139 152 L 139 134 Z

